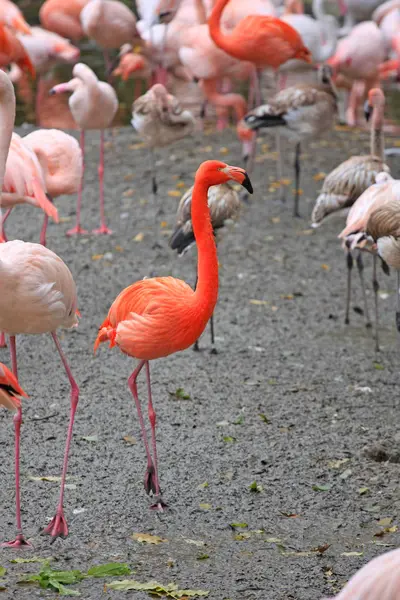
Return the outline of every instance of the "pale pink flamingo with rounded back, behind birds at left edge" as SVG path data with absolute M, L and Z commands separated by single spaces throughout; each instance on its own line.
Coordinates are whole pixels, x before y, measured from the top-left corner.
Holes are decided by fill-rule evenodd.
M 82 150 L 74 137 L 59 129 L 38 129 L 23 142 L 34 152 L 42 167 L 47 196 L 52 202 L 59 196 L 76 194 L 83 173 Z M 49 217 L 45 214 L 40 243 L 46 245 Z

